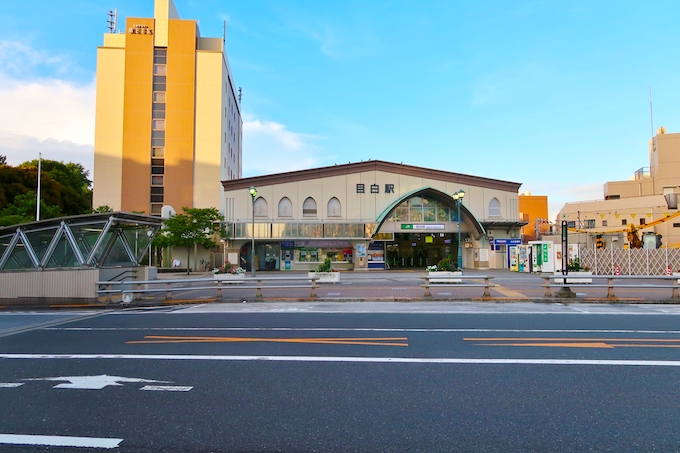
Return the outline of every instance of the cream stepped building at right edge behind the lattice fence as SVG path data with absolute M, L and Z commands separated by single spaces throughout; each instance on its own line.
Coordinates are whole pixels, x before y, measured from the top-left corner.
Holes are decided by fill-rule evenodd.
M 630 246 L 631 228 L 638 237 L 661 235 L 664 246 L 680 246 L 680 215 L 675 216 L 679 197 L 680 134 L 661 127 L 649 141 L 649 167 L 638 169 L 627 181 L 605 183 L 604 200 L 567 203 L 556 220 L 589 233 L 589 246 L 596 244 L 598 235 L 605 248 Z

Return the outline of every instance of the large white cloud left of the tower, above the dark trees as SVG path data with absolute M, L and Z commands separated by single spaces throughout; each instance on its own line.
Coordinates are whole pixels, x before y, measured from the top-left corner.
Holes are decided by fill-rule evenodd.
M 38 66 L 61 74 L 60 57 L 15 42 L 0 43 L 0 154 L 11 165 L 43 158 L 92 170 L 95 84 L 36 75 Z

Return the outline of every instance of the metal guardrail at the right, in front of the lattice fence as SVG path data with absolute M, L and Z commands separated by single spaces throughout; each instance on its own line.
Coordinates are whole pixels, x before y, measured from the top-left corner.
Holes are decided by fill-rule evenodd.
M 680 299 L 680 295 L 678 294 L 678 277 L 677 276 L 671 276 L 671 275 L 588 275 L 588 279 L 592 280 L 607 280 L 607 283 L 585 283 L 585 282 L 578 282 L 578 283 L 569 283 L 569 274 L 566 275 L 560 275 L 560 274 L 541 274 L 541 278 L 545 280 L 545 283 L 541 285 L 541 287 L 545 288 L 545 294 L 543 297 L 556 297 L 553 296 L 552 291 L 550 288 L 569 288 L 571 286 L 587 286 L 590 288 L 607 288 L 607 299 L 618 299 L 616 295 L 614 294 L 614 288 L 630 288 L 630 289 L 639 289 L 639 288 L 654 288 L 654 289 L 663 289 L 663 288 L 669 288 L 671 289 L 671 299 Z M 573 276 L 571 277 L 574 280 L 582 280 L 584 277 L 582 275 L 578 276 Z M 551 280 L 561 280 L 563 283 L 556 283 L 553 282 L 552 284 L 550 283 Z M 644 284 L 644 283 L 636 283 L 634 285 L 632 284 L 619 284 L 618 282 L 615 283 L 615 280 L 622 280 L 622 281 L 635 281 L 635 280 L 661 280 L 661 281 L 670 281 L 670 285 L 663 285 L 663 284 Z

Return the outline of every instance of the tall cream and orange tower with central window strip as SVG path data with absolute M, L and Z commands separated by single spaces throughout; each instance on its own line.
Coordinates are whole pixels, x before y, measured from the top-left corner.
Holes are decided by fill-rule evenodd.
M 94 207 L 160 215 L 225 211 L 241 177 L 242 119 L 222 38 L 203 38 L 172 0 L 97 49 Z

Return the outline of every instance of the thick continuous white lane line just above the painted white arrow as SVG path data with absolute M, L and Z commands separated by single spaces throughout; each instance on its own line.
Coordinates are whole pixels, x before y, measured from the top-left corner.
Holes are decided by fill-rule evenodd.
M 205 360 L 231 362 L 358 362 L 358 363 L 439 363 L 470 365 L 595 365 L 680 367 L 674 360 L 581 360 L 581 359 L 461 359 L 415 357 L 323 357 L 323 356 L 229 356 L 229 355 L 148 355 L 148 354 L 0 354 L 0 359 L 114 359 L 114 360 Z

